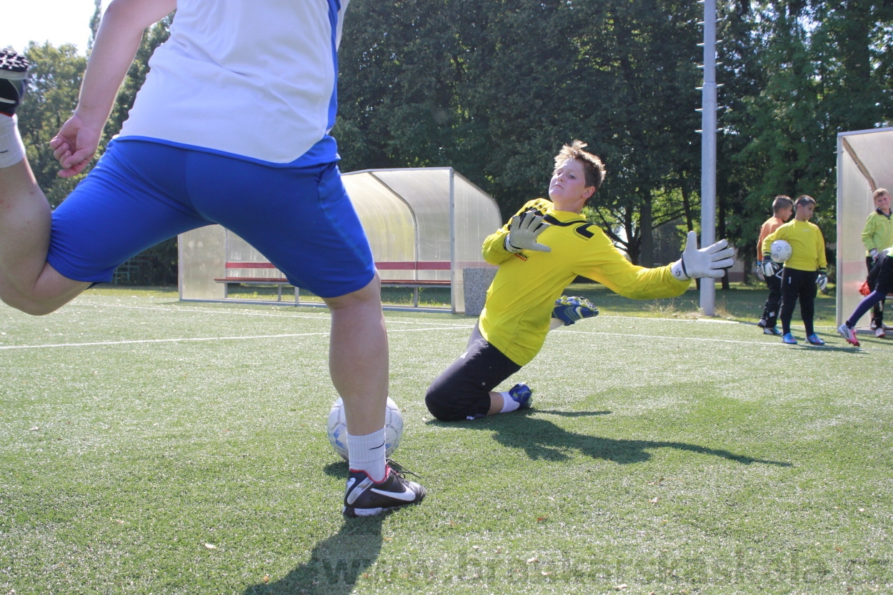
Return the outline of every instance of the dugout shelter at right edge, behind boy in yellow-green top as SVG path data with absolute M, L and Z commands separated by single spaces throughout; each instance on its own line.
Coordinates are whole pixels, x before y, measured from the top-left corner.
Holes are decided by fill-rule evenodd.
M 838 133 L 837 195 L 837 324 L 847 320 L 862 301 L 865 281 L 862 230 L 874 210 L 875 189 L 893 190 L 893 128 Z M 867 328 L 871 312 L 856 328 Z

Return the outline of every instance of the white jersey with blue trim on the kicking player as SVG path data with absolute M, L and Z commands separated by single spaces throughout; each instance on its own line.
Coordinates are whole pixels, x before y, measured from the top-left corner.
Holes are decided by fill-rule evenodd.
M 121 139 L 328 163 L 349 0 L 178 0 Z

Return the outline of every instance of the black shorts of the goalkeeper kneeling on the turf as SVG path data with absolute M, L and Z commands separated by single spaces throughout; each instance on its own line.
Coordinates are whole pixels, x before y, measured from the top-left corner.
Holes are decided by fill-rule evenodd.
M 484 417 L 490 410 L 490 390 L 521 370 L 499 349 L 490 345 L 474 325 L 468 348 L 425 394 L 425 405 L 444 422 Z

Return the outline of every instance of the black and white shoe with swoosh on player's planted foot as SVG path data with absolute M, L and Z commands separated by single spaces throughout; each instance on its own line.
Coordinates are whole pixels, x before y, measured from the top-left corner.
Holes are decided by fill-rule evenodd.
M 347 475 L 344 491 L 344 514 L 346 516 L 372 516 L 391 510 L 418 504 L 425 498 L 421 484 L 406 480 L 403 473 L 411 473 L 394 461 L 388 461 L 385 478 L 376 483 L 364 471 L 351 471 Z M 414 474 L 414 473 L 413 473 Z

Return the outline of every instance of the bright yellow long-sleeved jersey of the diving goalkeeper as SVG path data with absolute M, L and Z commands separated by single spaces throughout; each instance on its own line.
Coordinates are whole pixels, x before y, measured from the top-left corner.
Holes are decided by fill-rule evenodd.
M 542 348 L 555 299 L 577 275 L 602 283 L 627 298 L 680 296 L 689 281 L 677 281 L 670 265 L 647 269 L 630 264 L 605 232 L 579 214 L 555 211 L 551 201 L 531 200 L 519 214 L 534 210 L 550 223 L 538 238 L 551 252 L 505 249 L 506 223 L 484 240 L 483 256 L 498 264 L 480 314 L 480 334 L 517 365 L 527 365 Z

